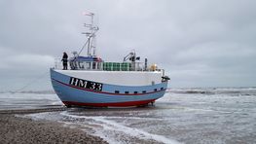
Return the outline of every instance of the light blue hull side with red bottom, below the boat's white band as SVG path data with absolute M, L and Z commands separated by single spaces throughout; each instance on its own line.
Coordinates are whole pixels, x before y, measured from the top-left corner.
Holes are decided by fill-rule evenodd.
M 72 77 L 57 72 L 55 69 L 50 71 L 55 93 L 66 106 L 128 107 L 146 105 L 164 96 L 167 87 L 167 82 L 139 87 L 102 84 L 100 90 L 92 90 L 71 85 Z

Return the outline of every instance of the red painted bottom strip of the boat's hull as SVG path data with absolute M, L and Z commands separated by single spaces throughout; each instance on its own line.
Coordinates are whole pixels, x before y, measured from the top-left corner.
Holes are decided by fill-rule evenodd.
M 66 106 L 91 106 L 91 107 L 128 107 L 128 106 L 141 106 L 150 102 L 154 102 L 156 99 L 142 100 L 142 101 L 127 101 L 116 103 L 84 103 L 74 101 L 62 101 Z

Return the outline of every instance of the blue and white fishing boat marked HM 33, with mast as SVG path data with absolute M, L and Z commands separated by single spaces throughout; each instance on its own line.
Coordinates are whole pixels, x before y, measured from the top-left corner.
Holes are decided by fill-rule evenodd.
M 164 96 L 169 78 L 156 64 L 148 64 L 132 50 L 121 62 L 105 61 L 95 54 L 95 36 L 98 27 L 94 14 L 86 32 L 87 41 L 79 53 L 68 59 L 63 70 L 60 59 L 50 69 L 55 93 L 66 107 L 129 107 L 153 104 Z M 81 53 L 87 48 L 87 55 Z M 149 66 L 148 66 L 149 65 Z

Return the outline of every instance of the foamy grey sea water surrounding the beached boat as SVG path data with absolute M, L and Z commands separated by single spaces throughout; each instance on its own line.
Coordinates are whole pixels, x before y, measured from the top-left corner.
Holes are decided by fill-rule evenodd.
M 5 94 L 2 109 L 61 104 L 54 93 Z M 62 122 L 109 143 L 256 143 L 256 88 L 169 89 L 145 108 L 71 108 L 26 117 Z

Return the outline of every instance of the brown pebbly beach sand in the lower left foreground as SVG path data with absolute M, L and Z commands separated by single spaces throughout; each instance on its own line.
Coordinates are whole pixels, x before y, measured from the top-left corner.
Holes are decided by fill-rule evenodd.
M 58 122 L 33 121 L 24 114 L 61 111 L 63 108 L 0 111 L 0 143 L 88 143 L 105 144 L 102 138 Z

